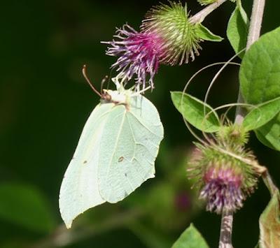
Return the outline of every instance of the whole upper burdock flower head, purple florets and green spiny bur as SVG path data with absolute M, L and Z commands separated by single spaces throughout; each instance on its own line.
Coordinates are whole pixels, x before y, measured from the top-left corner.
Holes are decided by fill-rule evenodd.
M 200 41 L 186 7 L 169 2 L 148 11 L 141 31 L 125 24 L 117 29 L 113 41 L 105 43 L 110 45 L 106 54 L 118 57 L 112 67 L 117 68 L 120 78 L 130 80 L 136 75 L 137 85 L 145 89 L 147 81 L 153 87 L 160 63 L 188 63 L 189 57 L 194 59 L 198 54 Z

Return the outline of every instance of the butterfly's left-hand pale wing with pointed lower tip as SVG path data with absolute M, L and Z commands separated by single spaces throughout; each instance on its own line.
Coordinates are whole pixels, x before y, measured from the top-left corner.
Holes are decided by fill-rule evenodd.
M 105 202 L 99 194 L 97 170 L 102 133 L 113 105 L 99 104 L 94 108 L 62 180 L 59 210 L 67 228 L 79 214 Z

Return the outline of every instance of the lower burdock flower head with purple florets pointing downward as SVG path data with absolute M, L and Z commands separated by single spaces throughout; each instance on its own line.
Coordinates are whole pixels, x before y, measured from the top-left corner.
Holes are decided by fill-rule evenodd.
M 189 177 L 197 180 L 200 198 L 206 200 L 211 212 L 235 212 L 258 182 L 260 166 L 253 153 L 237 140 L 246 140 L 246 133 L 238 133 L 235 126 L 226 127 L 215 143 L 197 144 L 190 161 Z

